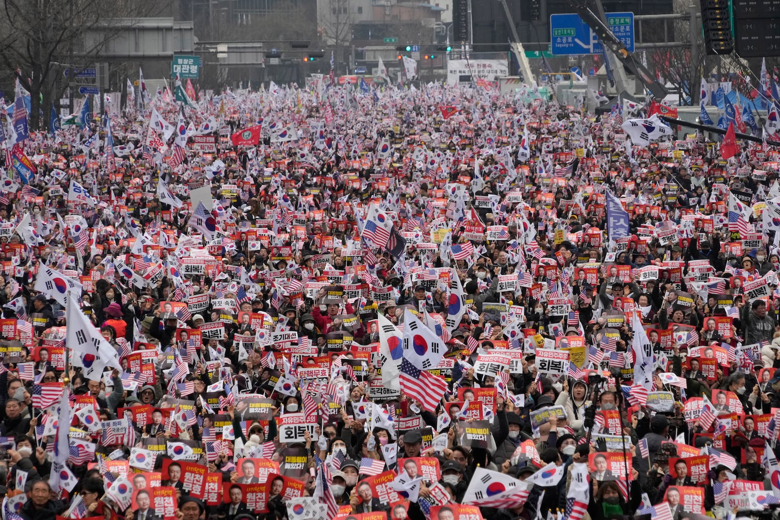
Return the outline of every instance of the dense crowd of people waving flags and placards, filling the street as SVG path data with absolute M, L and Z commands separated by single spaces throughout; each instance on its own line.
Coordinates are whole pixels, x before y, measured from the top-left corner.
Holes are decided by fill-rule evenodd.
M 0 133 L 3 520 L 778 502 L 777 148 L 531 87 L 143 106 Z

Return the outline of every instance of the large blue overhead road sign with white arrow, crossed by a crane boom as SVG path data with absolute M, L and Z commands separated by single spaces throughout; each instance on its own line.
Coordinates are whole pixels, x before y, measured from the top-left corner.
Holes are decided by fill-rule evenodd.
M 633 12 L 607 12 L 612 33 L 634 51 Z M 601 41 L 579 15 L 550 15 L 550 50 L 554 55 L 600 54 Z

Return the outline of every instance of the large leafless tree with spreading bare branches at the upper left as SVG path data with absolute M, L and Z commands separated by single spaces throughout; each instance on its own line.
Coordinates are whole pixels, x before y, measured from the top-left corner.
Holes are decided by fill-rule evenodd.
M 85 44 L 84 35 L 108 19 L 154 16 L 169 0 L 2 0 L 0 64 L 16 71 L 30 92 L 30 128 L 41 126 L 40 108 L 61 94 L 55 84 L 64 69 L 94 65 L 113 36 Z M 46 118 L 48 119 L 48 113 Z

